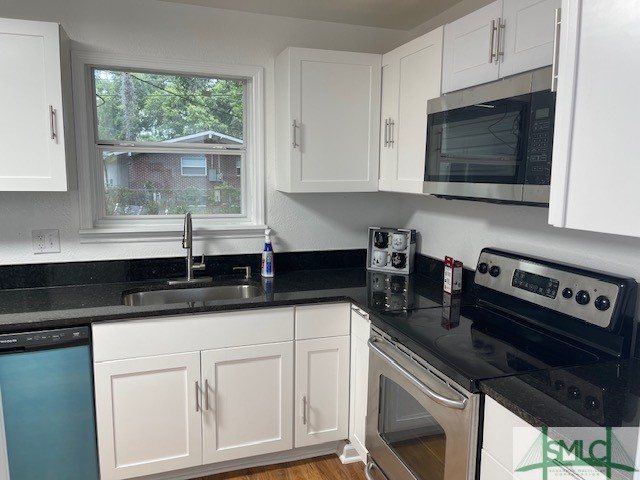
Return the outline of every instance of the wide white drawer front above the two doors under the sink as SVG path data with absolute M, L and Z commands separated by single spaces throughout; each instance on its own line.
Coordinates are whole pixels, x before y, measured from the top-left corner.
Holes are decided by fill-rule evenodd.
M 119 360 L 293 340 L 293 307 L 93 325 L 93 360 Z

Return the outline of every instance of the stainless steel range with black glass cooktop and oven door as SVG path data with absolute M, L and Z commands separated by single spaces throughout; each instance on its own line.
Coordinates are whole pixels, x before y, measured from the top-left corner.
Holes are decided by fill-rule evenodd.
M 450 306 L 372 314 L 368 478 L 475 479 L 480 381 L 629 356 L 637 288 L 484 249 L 459 318 Z

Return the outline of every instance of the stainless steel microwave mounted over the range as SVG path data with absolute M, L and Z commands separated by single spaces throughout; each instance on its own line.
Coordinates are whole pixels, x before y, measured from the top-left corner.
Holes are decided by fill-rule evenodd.
M 556 96 L 544 68 L 427 103 L 424 193 L 549 203 Z

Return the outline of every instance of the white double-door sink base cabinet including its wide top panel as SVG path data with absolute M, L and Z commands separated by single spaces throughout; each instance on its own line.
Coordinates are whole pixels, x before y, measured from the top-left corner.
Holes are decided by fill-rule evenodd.
M 293 448 L 293 307 L 96 324 L 93 350 L 102 480 Z

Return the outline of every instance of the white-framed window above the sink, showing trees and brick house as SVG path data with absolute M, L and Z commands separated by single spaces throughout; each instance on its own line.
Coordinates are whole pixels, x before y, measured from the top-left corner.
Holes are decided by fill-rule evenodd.
M 186 212 L 264 228 L 261 68 L 74 52 L 73 74 L 81 239 L 156 239 Z

